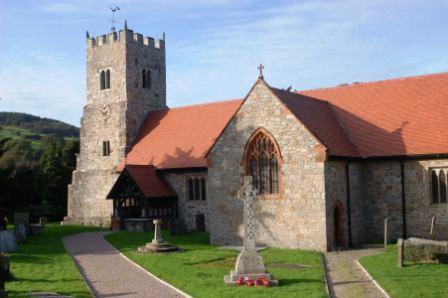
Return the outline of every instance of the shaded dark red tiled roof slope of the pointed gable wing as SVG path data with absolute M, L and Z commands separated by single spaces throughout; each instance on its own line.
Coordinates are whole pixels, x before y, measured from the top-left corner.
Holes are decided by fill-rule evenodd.
M 331 154 L 359 157 L 358 151 L 334 117 L 328 102 L 272 87 L 271 90 L 308 130 L 329 149 Z

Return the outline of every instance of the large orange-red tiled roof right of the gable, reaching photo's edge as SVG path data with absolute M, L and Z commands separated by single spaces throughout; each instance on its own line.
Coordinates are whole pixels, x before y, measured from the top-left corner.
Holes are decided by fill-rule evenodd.
M 448 153 L 448 73 L 299 93 L 331 104 L 340 127 L 362 157 Z M 320 117 L 312 113 L 309 118 Z M 336 125 L 329 126 L 328 134 L 338 133 Z M 345 147 L 335 143 L 328 149 L 330 155 L 339 155 Z

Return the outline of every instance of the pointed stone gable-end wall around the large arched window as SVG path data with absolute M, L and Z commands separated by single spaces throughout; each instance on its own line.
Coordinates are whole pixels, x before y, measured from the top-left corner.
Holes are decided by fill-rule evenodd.
M 258 244 L 326 250 L 324 149 L 260 80 L 209 154 L 211 242 L 242 243 L 242 159 L 248 139 L 259 128 L 279 145 L 282 191 L 277 197 L 257 197 Z

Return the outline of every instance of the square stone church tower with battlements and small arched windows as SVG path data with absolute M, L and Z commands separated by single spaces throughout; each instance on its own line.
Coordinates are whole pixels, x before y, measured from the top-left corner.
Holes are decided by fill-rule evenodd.
M 68 224 L 108 226 L 106 196 L 146 115 L 166 108 L 165 38 L 127 28 L 96 38 L 87 33 L 87 104 L 80 154 L 68 186 Z

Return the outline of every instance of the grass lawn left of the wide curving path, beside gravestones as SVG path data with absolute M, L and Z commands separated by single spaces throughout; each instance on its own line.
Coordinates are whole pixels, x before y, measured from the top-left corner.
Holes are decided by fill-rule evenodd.
M 30 292 L 91 297 L 61 238 L 93 230 L 98 228 L 50 223 L 41 234 L 30 236 L 21 243 L 19 251 L 9 254 L 13 280 L 6 283 L 6 288 L 10 297 L 23 297 Z

